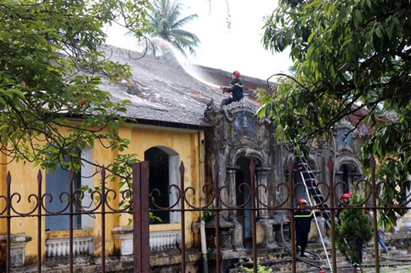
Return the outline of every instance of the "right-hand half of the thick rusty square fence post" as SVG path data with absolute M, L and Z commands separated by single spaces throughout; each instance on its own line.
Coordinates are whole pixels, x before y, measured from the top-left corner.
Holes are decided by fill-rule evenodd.
M 141 270 L 150 271 L 150 234 L 149 234 L 149 161 L 141 162 Z

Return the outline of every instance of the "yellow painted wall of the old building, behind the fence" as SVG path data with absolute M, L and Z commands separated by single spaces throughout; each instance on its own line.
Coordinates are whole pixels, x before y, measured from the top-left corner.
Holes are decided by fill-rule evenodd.
M 203 161 L 200 157 L 199 146 L 201 139 L 203 138 L 203 133 L 201 131 L 195 130 L 184 130 L 184 129 L 170 129 L 162 127 L 147 127 L 147 126 L 133 126 L 130 128 L 119 129 L 119 134 L 123 138 L 128 138 L 131 141 L 129 150 L 124 153 L 136 153 L 138 158 L 142 161 L 144 160 L 144 153 L 147 149 L 153 146 L 166 146 L 173 149 L 179 155 L 179 161 L 184 162 L 186 168 L 184 183 L 185 187 L 195 187 L 197 189 L 196 196 L 188 196 L 190 203 L 199 206 L 199 200 L 201 196 L 201 167 L 200 162 Z M 95 145 L 93 149 L 93 159 L 98 161 L 99 164 L 107 166 L 112 163 L 112 160 L 117 155 L 117 151 L 110 151 L 110 149 L 103 148 L 101 144 Z M 1 162 L 7 161 L 5 156 L 1 157 Z M 13 205 L 21 212 L 28 212 L 34 206 L 34 200 L 32 203 L 28 202 L 29 194 L 37 194 L 37 174 L 39 168 L 33 168 L 32 164 L 23 164 L 22 162 L 12 162 L 8 165 L 3 165 L 0 167 L 0 195 L 5 195 L 5 176 L 10 170 L 12 174 L 12 187 L 11 192 L 18 192 L 21 194 L 22 200 L 20 203 L 14 202 Z M 202 170 L 203 171 L 203 170 Z M 100 175 L 95 176 L 95 185 L 99 185 Z M 45 193 L 45 174 L 43 172 L 42 181 L 42 193 Z M 112 188 L 118 191 L 118 186 L 116 183 L 107 181 L 106 187 Z M 118 197 L 117 197 L 118 198 Z M 4 205 L 0 201 L 0 209 Z M 110 204 L 114 209 L 118 209 L 119 199 L 115 202 L 112 201 Z M 106 210 L 109 210 L 108 208 Z M 191 232 L 191 225 L 193 221 L 199 220 L 199 213 L 186 213 L 186 245 L 192 246 L 193 236 Z M 106 244 L 106 254 L 110 255 L 114 251 L 114 239 L 112 237 L 112 229 L 114 226 L 127 226 L 128 220 L 127 216 L 121 216 L 120 218 L 116 214 L 108 214 L 105 218 L 105 244 Z M 160 224 L 151 225 L 150 231 L 164 231 L 167 229 L 175 230 L 176 226 L 179 224 Z M 28 263 L 33 262 L 37 257 L 37 219 L 36 218 L 13 218 L 12 219 L 12 233 L 26 233 L 33 238 L 32 242 L 29 242 L 25 248 L 26 261 Z M 0 220 L 0 233 L 5 233 L 5 220 Z M 92 229 L 92 235 L 94 237 L 95 244 L 95 255 L 101 254 L 101 216 L 97 215 L 94 222 L 94 229 Z M 55 237 L 56 235 L 66 237 L 68 231 L 62 231 L 61 233 L 49 233 L 45 231 L 45 218 L 42 219 L 42 256 L 44 259 L 45 251 L 45 238 Z M 117 242 L 118 243 L 118 242 Z M 198 243 L 198 242 L 196 242 Z M 118 245 L 116 244 L 118 247 Z

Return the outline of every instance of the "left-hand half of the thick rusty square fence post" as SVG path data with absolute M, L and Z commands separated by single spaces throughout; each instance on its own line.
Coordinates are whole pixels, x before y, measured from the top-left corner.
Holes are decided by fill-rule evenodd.
M 141 273 L 140 163 L 133 164 L 133 273 Z

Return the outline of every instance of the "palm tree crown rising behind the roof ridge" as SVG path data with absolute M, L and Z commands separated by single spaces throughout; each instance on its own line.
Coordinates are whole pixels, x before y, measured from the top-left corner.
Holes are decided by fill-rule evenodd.
M 197 14 L 180 18 L 182 5 L 177 1 L 153 0 L 151 6 L 153 10 L 148 14 L 151 36 L 158 36 L 170 42 L 184 55 L 186 55 L 185 49 L 188 49 L 191 54 L 195 54 L 194 48 L 198 46 L 199 38 L 181 28 L 197 18 Z

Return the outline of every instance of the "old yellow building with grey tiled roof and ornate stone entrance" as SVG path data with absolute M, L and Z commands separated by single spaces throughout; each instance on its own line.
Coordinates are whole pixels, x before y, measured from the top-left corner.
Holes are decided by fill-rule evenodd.
M 219 104 L 226 96 L 217 87 L 211 87 L 199 79 L 192 77 L 177 62 L 175 57 L 166 50 L 155 60 L 147 55 L 140 60 L 134 60 L 133 55 L 125 49 L 110 47 L 112 60 L 129 63 L 133 70 L 132 85 L 117 83 L 112 86 L 103 82 L 103 90 L 109 90 L 113 100 L 129 99 L 132 103 L 127 108 L 126 117 L 130 127 L 120 128 L 123 138 L 131 141 L 129 152 L 137 153 L 141 160 L 150 164 L 150 187 L 157 188 L 164 198 L 158 198 L 158 205 L 168 207 L 177 199 L 177 193 L 169 186 L 179 183 L 179 164 L 186 166 L 185 184 L 201 193 L 201 188 L 212 181 L 213 164 L 219 164 L 219 183 L 229 189 L 232 194 L 224 196 L 225 202 L 232 207 L 240 206 L 247 201 L 249 192 L 240 192 L 242 184 L 250 185 L 251 177 L 249 163 L 256 161 L 256 182 L 266 186 L 262 192 L 264 203 L 275 205 L 284 199 L 284 192 L 277 186 L 288 177 L 288 161 L 294 155 L 288 146 L 277 144 L 273 138 L 275 128 L 269 120 L 258 120 L 254 116 L 258 104 L 254 100 L 252 89 L 266 86 L 266 81 L 245 77 L 246 97 L 238 103 L 232 103 L 221 109 Z M 200 73 L 216 86 L 227 84 L 230 73 L 195 66 L 195 73 Z M 366 128 L 353 131 L 345 138 L 345 133 L 352 129 L 349 121 L 338 125 L 333 146 L 318 146 L 314 148 L 308 163 L 316 173 L 319 181 L 327 181 L 327 160 L 334 157 L 338 179 L 345 181 L 337 189 L 338 194 L 352 190 L 352 182 L 362 177 L 362 166 L 356 153 Z M 99 144 L 94 148 L 82 151 L 82 157 L 99 161 L 100 164 L 110 164 L 119 151 L 108 151 Z M 7 161 L 5 155 L 1 162 Z M 14 204 L 17 211 L 27 212 L 32 209 L 29 195 L 37 191 L 36 177 L 38 168 L 29 164 L 12 163 L 0 168 L 1 181 L 5 181 L 8 172 L 12 174 L 11 192 L 21 194 L 21 203 Z M 99 177 L 88 177 L 95 172 L 87 164 L 82 168 L 81 177 L 76 180 L 75 187 L 84 185 L 97 186 Z M 64 170 L 55 170 L 45 174 L 42 192 L 58 196 L 68 190 L 68 174 Z M 294 183 L 301 182 L 295 175 Z M 116 183 L 109 184 L 110 189 L 119 192 Z M 0 195 L 5 196 L 6 184 L 1 183 Z M 192 196 L 192 204 L 201 205 L 207 194 Z M 303 190 L 297 190 L 297 197 L 304 197 Z M 82 200 L 90 204 L 90 196 Z M 246 205 L 247 206 L 247 205 Z M 45 209 L 59 211 L 64 209 L 64 202 L 58 198 L 51 203 L 45 202 Z M 119 203 L 112 203 L 119 208 Z M 156 213 L 162 222 L 150 225 L 151 265 L 155 270 L 170 270 L 179 268 L 180 224 L 178 213 L 161 211 Z M 225 211 L 222 214 L 223 228 L 223 264 L 229 268 L 240 257 L 243 257 L 251 240 L 251 211 Z M 260 211 L 258 213 L 258 244 L 264 248 L 275 248 L 279 242 L 279 224 L 282 221 L 282 211 Z M 201 252 L 199 211 L 186 213 L 186 247 L 190 250 L 188 267 L 191 272 L 200 268 Z M 76 216 L 75 247 L 78 248 L 79 264 L 97 263 L 101 254 L 101 219 L 88 215 Z M 409 222 L 403 226 L 409 225 Z M 0 233 L 6 232 L 5 219 L 0 220 Z M 69 220 L 66 216 L 47 216 L 42 218 L 42 241 L 38 242 L 36 218 L 13 218 L 11 231 L 16 246 L 13 259 L 16 268 L 23 264 L 34 263 L 38 255 L 37 246 L 41 246 L 41 255 L 47 268 L 66 263 L 68 255 Z M 213 233 L 212 224 L 207 226 Z M 130 266 L 130 246 L 132 231 L 127 216 L 106 217 L 105 252 L 108 257 L 119 257 L 108 261 L 108 267 L 117 268 L 119 261 L 125 268 Z M 208 236 L 208 245 L 212 248 L 212 236 Z M 3 239 L 4 242 L 4 239 Z M 4 252 L 4 243 L 1 244 Z M 81 258 L 81 259 L 80 259 Z

